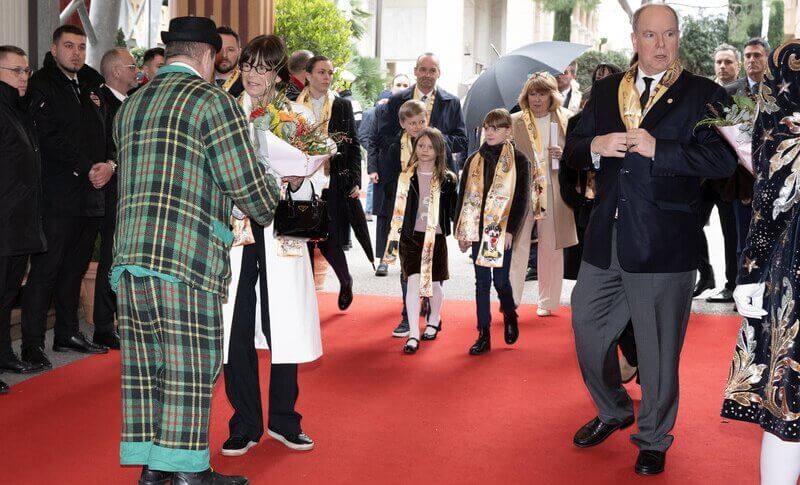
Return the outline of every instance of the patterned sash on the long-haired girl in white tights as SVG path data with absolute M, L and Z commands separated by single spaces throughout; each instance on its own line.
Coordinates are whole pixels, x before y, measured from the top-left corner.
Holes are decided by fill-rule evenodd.
M 408 201 L 408 190 L 411 187 L 411 177 L 417 172 L 417 161 L 400 174 L 397 180 L 397 195 L 394 198 L 394 211 L 392 212 L 392 222 L 389 229 L 389 240 L 386 243 L 386 252 L 383 255 L 383 262 L 393 264 L 397 261 L 400 252 L 400 233 L 403 230 L 403 219 L 406 213 L 406 202 Z M 436 243 L 436 226 L 439 224 L 439 201 L 442 195 L 442 181 L 439 177 L 431 178 L 431 192 L 426 197 L 430 197 L 428 213 L 425 219 L 425 239 L 422 242 L 422 256 L 420 258 L 420 283 L 419 296 L 430 298 L 433 296 L 433 246 Z M 419 194 L 419 203 L 422 203 L 422 194 Z M 414 214 L 416 217 L 416 214 Z

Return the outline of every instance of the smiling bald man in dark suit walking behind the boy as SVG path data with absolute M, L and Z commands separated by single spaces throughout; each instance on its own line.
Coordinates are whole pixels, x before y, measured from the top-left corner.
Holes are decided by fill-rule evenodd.
M 377 160 L 377 172 L 370 173 L 370 178 L 374 184 L 372 211 L 377 216 L 375 256 L 378 258 L 383 257 L 386 249 L 386 240 L 394 209 L 394 197 L 397 191 L 397 178 L 400 175 L 396 163 L 396 153 L 392 153 L 399 147 L 400 119 L 398 113 L 400 106 L 409 99 L 417 99 L 425 103 L 433 96 L 433 107 L 428 126 L 437 128 L 444 135 L 448 151 L 447 163 L 454 172 L 458 173 L 458 170 L 453 166 L 452 154 L 467 149 L 467 130 L 464 125 L 464 115 L 461 112 L 461 101 L 436 85 L 440 75 L 439 59 L 430 52 L 422 54 L 417 58 L 414 67 L 416 83 L 408 89 L 392 95 L 389 102 L 376 112 L 377 128 L 372 134 L 368 159 Z M 397 146 L 393 149 L 393 145 Z M 386 265 L 380 263 L 375 274 L 386 276 Z M 393 335 L 404 337 L 407 334 L 408 322 L 404 308 L 403 321 Z

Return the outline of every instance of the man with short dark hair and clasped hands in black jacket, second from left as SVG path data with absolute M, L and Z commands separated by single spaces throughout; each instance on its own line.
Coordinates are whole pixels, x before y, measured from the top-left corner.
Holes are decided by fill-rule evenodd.
M 78 326 L 80 284 L 105 211 L 102 187 L 113 175 L 102 77 L 86 67 L 86 35 L 63 25 L 42 69 L 32 77 L 28 107 L 42 147 L 44 234 L 48 251 L 31 257 L 22 296 L 23 359 L 50 367 L 44 353 L 47 310 L 56 308 L 53 350 L 105 353 Z

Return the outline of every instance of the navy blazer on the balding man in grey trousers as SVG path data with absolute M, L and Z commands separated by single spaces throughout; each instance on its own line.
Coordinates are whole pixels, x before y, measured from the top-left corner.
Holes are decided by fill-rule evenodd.
M 578 126 L 567 136 L 564 160 L 592 167 L 590 146 L 598 135 L 624 132 L 617 93 L 624 73 L 597 82 Z M 656 138 L 653 159 L 637 153 L 600 160 L 594 208 L 586 228 L 583 260 L 611 263 L 612 228 L 625 271 L 673 273 L 697 269 L 698 201 L 703 178 L 723 178 L 736 169 L 733 149 L 713 128 L 695 128 L 709 103 L 727 103 L 711 80 L 683 71 L 642 120 Z

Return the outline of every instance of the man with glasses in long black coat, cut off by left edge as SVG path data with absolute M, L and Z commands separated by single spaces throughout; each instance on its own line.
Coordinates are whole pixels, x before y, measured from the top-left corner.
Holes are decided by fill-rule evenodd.
M 30 76 L 19 47 L 0 46 L 0 369 L 33 372 L 41 365 L 11 349 L 11 306 L 19 293 L 28 256 L 47 249 L 42 232 L 39 147 L 33 122 L 22 109 Z M 8 386 L 0 381 L 0 394 Z

